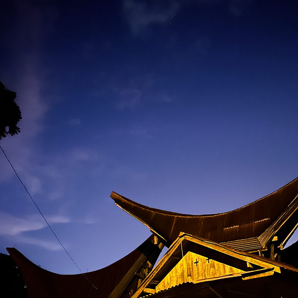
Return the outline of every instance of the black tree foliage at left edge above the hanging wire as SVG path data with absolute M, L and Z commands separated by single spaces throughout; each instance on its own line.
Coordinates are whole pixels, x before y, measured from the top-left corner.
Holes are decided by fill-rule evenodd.
M 20 128 L 17 126 L 21 117 L 20 107 L 15 103 L 16 93 L 5 88 L 0 82 L 0 140 L 7 134 L 13 136 L 18 134 Z M 6 128 L 8 127 L 8 131 Z

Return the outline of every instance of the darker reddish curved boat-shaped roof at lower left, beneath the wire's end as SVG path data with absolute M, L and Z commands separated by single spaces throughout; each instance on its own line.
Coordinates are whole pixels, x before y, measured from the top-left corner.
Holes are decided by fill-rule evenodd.
M 154 236 L 151 235 L 117 262 L 96 271 L 71 275 L 47 271 L 15 248 L 7 248 L 7 251 L 24 276 L 29 298 L 118 298 L 134 279 L 136 272 L 148 264 L 147 261 L 152 269 L 161 252 L 159 246 L 154 244 Z

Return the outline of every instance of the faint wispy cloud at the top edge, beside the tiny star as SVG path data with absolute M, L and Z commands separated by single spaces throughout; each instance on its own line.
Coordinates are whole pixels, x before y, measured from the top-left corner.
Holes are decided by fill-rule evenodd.
M 139 35 L 148 25 L 166 24 L 178 12 L 178 1 L 123 1 L 125 18 L 133 35 Z

